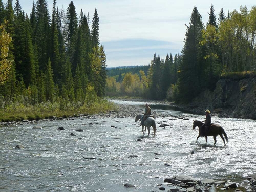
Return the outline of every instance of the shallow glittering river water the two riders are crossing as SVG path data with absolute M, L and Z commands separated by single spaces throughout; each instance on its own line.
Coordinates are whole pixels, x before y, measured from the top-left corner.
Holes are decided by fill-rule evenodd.
M 115 102 L 141 109 L 144 104 Z M 224 146 L 218 136 L 214 147 L 212 137 L 208 144 L 203 137 L 196 142 L 198 128 L 192 130 L 193 120 L 204 120 L 203 115 L 154 103 L 151 107 L 153 113 L 162 114 L 156 117 L 156 137 L 142 138 L 135 116 L 0 127 L 0 191 L 159 191 L 158 184 L 177 175 L 243 183 L 255 173 L 256 121 L 212 117 L 229 139 Z M 169 126 L 159 127 L 159 123 Z M 58 130 L 60 126 L 65 130 Z M 17 144 L 24 148 L 16 149 Z M 136 187 L 126 188 L 125 183 Z

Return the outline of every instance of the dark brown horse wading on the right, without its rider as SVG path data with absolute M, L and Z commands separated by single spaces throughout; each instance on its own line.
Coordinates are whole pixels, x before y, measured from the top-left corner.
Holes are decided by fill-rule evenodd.
M 208 126 L 207 130 L 203 130 L 202 125 L 203 125 L 203 122 L 201 122 L 201 121 L 194 121 L 193 122 L 193 130 L 197 126 L 199 128 L 199 135 L 197 136 L 197 140 L 198 140 L 199 137 L 205 137 L 205 140 L 206 140 L 206 143 L 207 143 L 207 136 L 213 136 L 214 137 L 214 145 L 215 145 L 216 144 L 216 137 L 217 137 L 217 135 L 219 135 L 222 138 L 222 140 L 223 140 L 223 142 L 226 146 L 226 143 L 225 143 L 225 140 L 224 140 L 222 134 L 224 134 L 225 139 L 226 139 L 227 142 L 228 142 L 228 138 L 227 138 L 227 134 L 225 133 L 224 129 L 221 126 L 219 126 L 217 124 L 211 124 L 210 126 Z

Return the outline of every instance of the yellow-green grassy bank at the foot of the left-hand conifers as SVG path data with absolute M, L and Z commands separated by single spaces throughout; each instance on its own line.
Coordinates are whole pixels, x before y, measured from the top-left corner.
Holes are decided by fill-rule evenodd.
M 86 104 L 63 103 L 63 102 L 45 102 L 36 105 L 24 105 L 14 102 L 0 109 L 0 121 L 22 121 L 48 119 L 53 117 L 69 117 L 74 114 L 97 114 L 109 110 L 115 110 L 116 105 L 104 99 Z

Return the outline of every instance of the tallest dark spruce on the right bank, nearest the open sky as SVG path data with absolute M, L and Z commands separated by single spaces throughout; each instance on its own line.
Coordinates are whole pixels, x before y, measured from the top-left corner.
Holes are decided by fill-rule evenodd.
M 202 48 L 199 42 L 202 40 L 204 28 L 202 16 L 195 6 L 190 17 L 189 26 L 185 34 L 185 42 L 182 49 L 183 61 L 179 73 L 179 99 L 181 102 L 190 102 L 197 96 L 200 89 L 200 74 L 202 61 Z

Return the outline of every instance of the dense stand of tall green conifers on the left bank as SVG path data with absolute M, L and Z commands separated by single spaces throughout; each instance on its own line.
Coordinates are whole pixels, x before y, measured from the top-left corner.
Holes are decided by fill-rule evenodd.
M 102 98 L 106 54 L 97 8 L 90 20 L 73 1 L 62 10 L 54 0 L 52 15 L 46 0 L 31 3 L 30 15 L 12 2 L 0 0 L 0 107 L 56 102 L 65 110 Z

